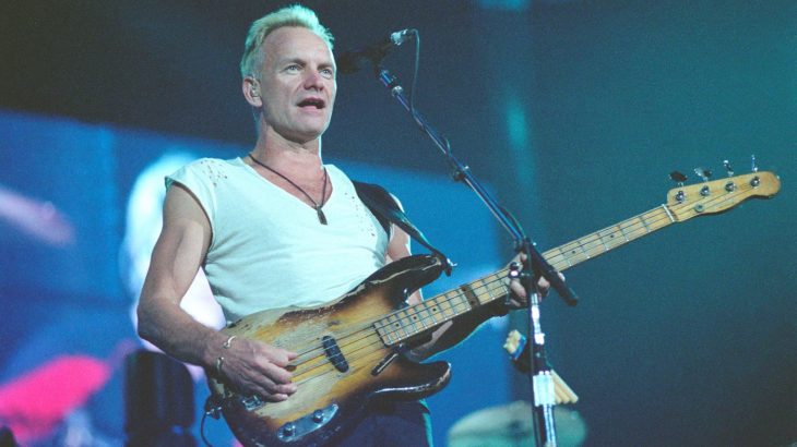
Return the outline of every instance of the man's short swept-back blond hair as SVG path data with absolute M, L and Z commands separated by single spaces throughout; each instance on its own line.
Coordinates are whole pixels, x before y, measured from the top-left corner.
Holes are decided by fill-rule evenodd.
M 319 22 L 316 12 L 300 4 L 285 7 L 252 22 L 252 26 L 249 28 L 249 34 L 247 35 L 247 41 L 243 45 L 243 56 L 241 57 L 240 65 L 241 77 L 258 74 L 258 67 L 262 61 L 262 52 L 258 50 L 271 32 L 283 26 L 299 26 L 310 29 L 321 37 L 330 47 L 330 50 L 332 50 L 334 37 Z

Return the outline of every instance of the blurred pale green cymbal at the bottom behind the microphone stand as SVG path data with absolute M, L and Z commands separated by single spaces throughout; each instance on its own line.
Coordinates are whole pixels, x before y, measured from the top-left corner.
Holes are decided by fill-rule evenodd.
M 475 411 L 449 430 L 449 447 L 513 447 L 534 444 L 530 402 L 519 400 Z M 580 446 L 586 438 L 586 423 L 578 411 L 554 407 L 557 445 Z

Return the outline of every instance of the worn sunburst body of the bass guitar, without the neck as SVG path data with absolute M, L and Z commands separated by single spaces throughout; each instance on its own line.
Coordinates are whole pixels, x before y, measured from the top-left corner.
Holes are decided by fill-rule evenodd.
M 236 437 L 247 446 L 323 444 L 357 421 L 378 395 L 416 399 L 445 386 L 448 362 L 419 364 L 394 355 L 398 346 L 388 346 L 374 325 L 441 270 L 436 257 L 411 256 L 380 269 L 330 306 L 264 311 L 225 328 L 299 353 L 293 373 L 298 389 L 283 402 L 247 399 L 210 378 Z

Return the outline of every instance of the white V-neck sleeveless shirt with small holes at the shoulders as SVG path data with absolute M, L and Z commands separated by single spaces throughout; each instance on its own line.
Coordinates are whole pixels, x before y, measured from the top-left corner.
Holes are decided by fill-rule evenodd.
M 388 234 L 352 181 L 325 165 L 328 225 L 240 158 L 203 158 L 166 178 L 187 188 L 211 222 L 204 270 L 227 321 L 340 298 L 384 266 Z

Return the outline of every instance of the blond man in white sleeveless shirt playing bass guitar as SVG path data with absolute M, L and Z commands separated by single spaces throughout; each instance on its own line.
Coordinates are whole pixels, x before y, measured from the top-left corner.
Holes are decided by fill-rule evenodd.
M 264 309 L 330 303 L 408 256 L 409 238 L 395 227 L 388 234 L 349 179 L 322 164 L 321 135 L 337 86 L 332 36 L 312 11 L 294 5 L 255 21 L 241 75 L 257 143 L 246 157 L 199 160 L 168 178 L 164 227 L 138 311 L 139 334 L 179 360 L 217 370 L 245 394 L 283 401 L 297 390 L 288 371 L 297 353 L 230 340 L 181 311 L 179 297 L 198 269 L 204 268 L 226 318 L 235 321 Z M 519 285 L 512 288 L 524 295 Z M 416 292 L 408 302 L 420 300 Z M 443 325 L 412 354 L 425 359 L 453 346 L 492 311 Z M 426 445 L 426 416 L 419 402 L 374 404 L 336 442 Z

